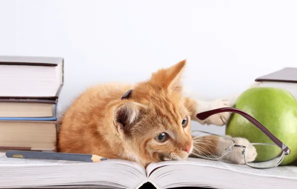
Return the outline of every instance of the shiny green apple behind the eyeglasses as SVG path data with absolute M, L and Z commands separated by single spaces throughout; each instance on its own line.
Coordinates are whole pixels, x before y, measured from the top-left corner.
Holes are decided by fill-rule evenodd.
M 238 96 L 234 107 L 253 116 L 291 149 L 281 165 L 288 165 L 297 159 L 297 100 L 290 92 L 272 87 L 251 88 Z M 233 113 L 226 124 L 226 134 L 246 138 L 251 143 L 273 143 L 254 124 L 237 113 Z M 282 153 L 277 146 L 255 147 L 258 162 L 273 159 Z

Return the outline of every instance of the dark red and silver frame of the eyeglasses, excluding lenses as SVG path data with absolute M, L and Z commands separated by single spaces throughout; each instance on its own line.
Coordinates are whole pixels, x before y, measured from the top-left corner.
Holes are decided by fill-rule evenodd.
M 217 109 L 212 109 L 212 110 L 208 110 L 208 111 L 203 111 L 203 112 L 197 113 L 196 114 L 196 117 L 199 120 L 205 120 L 208 117 L 210 117 L 211 115 L 214 115 L 214 114 L 217 114 L 217 113 L 223 113 L 223 112 L 233 112 L 233 113 L 238 113 L 238 114 L 242 115 L 248 121 L 250 121 L 251 123 L 253 123 L 258 129 L 260 129 L 268 138 L 270 138 L 275 145 L 277 145 L 280 149 L 282 149 L 282 151 L 283 151 L 283 154 L 282 154 L 283 157 L 282 157 L 282 159 L 275 166 L 272 166 L 272 167 L 279 166 L 281 164 L 281 162 L 284 160 L 285 156 L 290 154 L 291 150 L 290 150 L 290 148 L 287 145 L 285 145 L 282 141 L 280 141 L 274 134 L 272 134 L 258 120 L 256 120 L 250 114 L 248 114 L 247 112 L 245 112 L 245 111 L 243 111 L 241 109 L 238 109 L 238 108 L 235 108 L 235 107 L 222 107 L 222 108 L 217 108 Z M 199 131 L 199 132 L 204 132 L 204 131 Z M 204 132 L 204 133 L 207 133 L 207 132 Z M 212 135 L 224 137 L 222 135 L 217 135 L 217 134 L 213 134 L 213 133 L 208 133 L 208 134 L 212 134 Z M 231 138 L 229 138 L 229 139 L 231 139 Z M 243 155 L 245 157 L 244 158 L 245 164 L 247 166 L 249 166 L 249 167 L 253 167 L 253 166 L 248 165 L 248 163 L 246 162 L 246 151 L 247 151 L 247 149 L 248 149 L 248 147 L 250 145 L 258 145 L 258 144 L 263 144 L 263 143 L 250 143 L 248 146 L 242 146 L 242 145 L 236 145 L 235 144 L 235 141 L 233 139 L 231 139 L 231 140 L 233 141 L 233 145 L 229 147 L 230 149 L 228 149 L 228 152 L 225 155 L 223 155 L 222 157 L 220 157 L 219 159 L 215 159 L 215 160 L 221 160 L 221 159 L 223 159 L 226 155 L 228 155 L 232 151 L 232 149 L 234 147 L 242 147 L 242 148 L 245 148 L 244 151 L 243 151 Z M 273 144 L 272 143 L 268 143 L 268 144 L 265 144 L 265 145 L 273 145 Z M 267 168 L 253 167 L 253 168 L 257 168 L 257 169 L 268 169 L 268 168 L 272 168 L 272 167 L 267 167 Z

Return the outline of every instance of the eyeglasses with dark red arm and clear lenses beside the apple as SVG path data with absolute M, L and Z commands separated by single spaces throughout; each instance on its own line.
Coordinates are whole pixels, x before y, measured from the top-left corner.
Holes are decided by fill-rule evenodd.
M 247 146 L 237 145 L 233 139 L 227 136 L 203 131 L 192 131 L 195 145 L 193 154 L 195 156 L 210 160 L 221 160 L 228 158 L 234 148 L 244 148 L 242 155 L 244 156 L 244 162 L 247 166 L 257 169 L 268 169 L 279 166 L 285 156 L 290 154 L 288 146 L 273 135 L 259 121 L 240 109 L 223 107 L 198 113 L 196 117 L 200 120 L 204 120 L 211 115 L 222 112 L 233 112 L 242 115 L 271 139 L 272 143 L 249 143 Z M 251 156 L 255 155 L 255 152 L 257 152 L 256 157 L 251 159 Z

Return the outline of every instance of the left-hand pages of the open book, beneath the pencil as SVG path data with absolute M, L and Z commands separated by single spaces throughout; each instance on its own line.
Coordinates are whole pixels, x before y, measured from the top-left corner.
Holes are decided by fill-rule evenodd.
M 108 159 L 97 163 L 7 158 L 0 153 L 0 188 L 94 186 L 135 189 L 147 180 L 137 163 Z

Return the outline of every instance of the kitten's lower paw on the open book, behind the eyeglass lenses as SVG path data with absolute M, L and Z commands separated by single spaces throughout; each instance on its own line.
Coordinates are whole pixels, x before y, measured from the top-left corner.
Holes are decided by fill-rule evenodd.
M 245 138 L 239 138 L 239 137 L 235 137 L 232 138 L 235 141 L 236 145 L 240 145 L 240 146 L 248 146 L 250 144 L 250 142 L 245 139 Z M 245 164 L 245 159 L 244 159 L 244 154 L 243 154 L 243 150 L 245 149 L 245 147 L 233 147 L 233 150 L 224 158 L 228 161 L 230 161 L 233 164 Z M 246 153 L 246 157 L 247 157 L 247 162 L 252 162 L 256 159 L 257 157 L 257 151 L 256 148 L 254 146 L 250 146 L 247 153 Z

